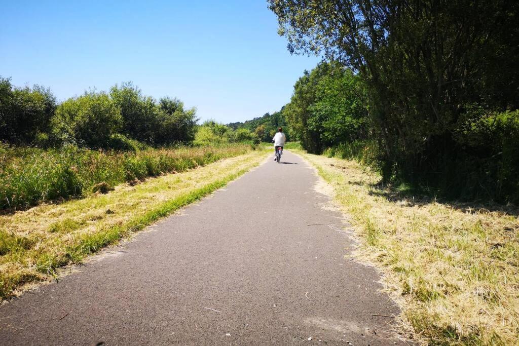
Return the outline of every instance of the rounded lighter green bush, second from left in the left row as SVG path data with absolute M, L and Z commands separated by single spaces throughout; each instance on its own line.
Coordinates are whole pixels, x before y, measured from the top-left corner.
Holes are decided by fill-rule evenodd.
M 57 143 L 103 148 L 120 130 L 122 117 L 106 93 L 87 92 L 60 104 L 51 122 Z

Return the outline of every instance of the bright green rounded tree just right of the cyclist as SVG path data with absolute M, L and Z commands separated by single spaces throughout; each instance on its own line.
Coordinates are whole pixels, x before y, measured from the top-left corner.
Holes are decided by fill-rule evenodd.
M 305 72 L 283 110 L 292 132 L 311 153 L 366 136 L 366 97 L 360 78 L 337 63 Z

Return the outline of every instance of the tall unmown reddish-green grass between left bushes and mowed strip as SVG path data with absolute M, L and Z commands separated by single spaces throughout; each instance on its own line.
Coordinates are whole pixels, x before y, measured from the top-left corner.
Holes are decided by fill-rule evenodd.
M 250 149 L 246 144 L 137 152 L 0 146 L 0 209 L 106 192 L 124 182 L 183 172 Z

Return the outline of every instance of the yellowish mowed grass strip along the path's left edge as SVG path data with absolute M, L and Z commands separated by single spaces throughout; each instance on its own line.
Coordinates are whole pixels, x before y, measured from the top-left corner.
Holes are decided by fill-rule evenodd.
M 0 300 L 223 187 L 265 156 L 264 150 L 250 151 L 106 194 L 0 216 Z

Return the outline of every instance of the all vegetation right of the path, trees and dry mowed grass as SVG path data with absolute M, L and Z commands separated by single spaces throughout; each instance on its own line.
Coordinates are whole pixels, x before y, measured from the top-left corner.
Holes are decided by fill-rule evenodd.
M 291 53 L 324 58 L 286 128 L 403 321 L 429 344 L 519 344 L 519 6 L 268 4 Z

